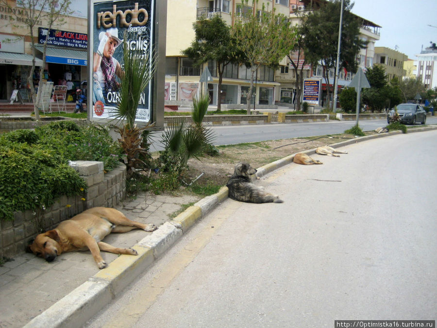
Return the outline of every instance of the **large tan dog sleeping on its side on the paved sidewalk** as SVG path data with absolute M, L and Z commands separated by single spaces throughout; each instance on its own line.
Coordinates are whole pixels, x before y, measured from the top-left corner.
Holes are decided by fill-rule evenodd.
M 115 208 L 93 207 L 61 222 L 53 230 L 37 235 L 27 250 L 51 262 L 62 253 L 89 249 L 99 269 L 103 269 L 107 263 L 101 258 L 101 250 L 138 255 L 132 248 L 117 248 L 101 242 L 111 232 L 122 233 L 133 229 L 153 231 L 156 226 L 129 220 Z

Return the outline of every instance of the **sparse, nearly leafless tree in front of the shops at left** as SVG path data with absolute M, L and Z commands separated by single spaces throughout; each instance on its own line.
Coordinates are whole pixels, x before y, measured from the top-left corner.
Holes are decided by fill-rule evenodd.
M 50 30 L 56 25 L 61 26 L 66 22 L 66 16 L 70 14 L 71 0 L 17 0 L 16 6 L 26 10 L 28 17 L 23 19 L 18 16 L 17 8 L 12 8 L 8 0 L 0 0 L 0 4 L 10 9 L 9 14 L 13 17 L 15 27 L 27 29 L 27 35 L 30 36 L 32 45 L 32 67 L 28 76 L 28 84 L 31 89 L 32 100 L 34 102 L 35 119 L 39 120 L 38 101 L 35 97 L 33 75 L 35 70 L 35 39 L 38 36 L 38 31 L 35 31 L 41 22 L 45 23 L 45 28 L 48 29 L 46 40 L 43 45 L 43 63 L 42 67 L 46 66 L 46 47 L 50 35 Z M 40 74 L 39 85 L 42 85 L 43 74 Z

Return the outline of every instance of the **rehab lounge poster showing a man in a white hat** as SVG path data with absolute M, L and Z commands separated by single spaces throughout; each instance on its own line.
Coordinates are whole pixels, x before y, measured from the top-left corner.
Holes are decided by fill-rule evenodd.
M 113 118 L 123 74 L 123 46 L 151 61 L 155 0 L 94 1 L 92 52 L 92 117 Z M 124 44 L 123 44 L 124 43 Z M 151 120 L 151 82 L 143 91 L 135 121 Z

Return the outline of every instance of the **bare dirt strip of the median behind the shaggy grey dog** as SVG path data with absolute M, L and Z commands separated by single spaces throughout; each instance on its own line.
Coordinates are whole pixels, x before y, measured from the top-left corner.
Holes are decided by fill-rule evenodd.
M 374 134 L 374 132 L 366 132 L 366 135 L 371 134 Z M 333 137 L 292 138 L 234 146 L 219 146 L 218 156 L 190 159 L 188 162 L 188 176 L 193 180 L 203 172 L 204 174 L 197 181 L 199 184 L 214 183 L 224 186 L 229 177 L 234 173 L 235 164 L 240 161 L 247 161 L 252 167 L 259 168 L 288 155 L 320 146 L 332 145 L 351 138 L 355 137 L 353 135 L 342 134 Z

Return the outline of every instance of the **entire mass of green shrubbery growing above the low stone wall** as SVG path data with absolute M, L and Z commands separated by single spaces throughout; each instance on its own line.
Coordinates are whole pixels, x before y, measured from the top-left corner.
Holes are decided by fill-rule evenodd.
M 59 196 L 79 195 L 86 185 L 68 160 L 102 161 L 105 170 L 119 164 L 120 148 L 105 128 L 53 122 L 0 136 L 0 219 L 15 211 L 50 207 Z

